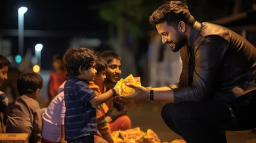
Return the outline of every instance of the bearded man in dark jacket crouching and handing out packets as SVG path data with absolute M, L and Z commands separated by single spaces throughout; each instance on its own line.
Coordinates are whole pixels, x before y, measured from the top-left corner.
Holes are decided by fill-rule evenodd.
M 256 49 L 231 30 L 199 23 L 186 4 L 166 2 L 150 17 L 162 42 L 180 50 L 180 82 L 161 88 L 129 85 L 135 94 L 123 102 L 168 102 L 166 125 L 187 143 L 226 142 L 225 130 L 256 127 Z

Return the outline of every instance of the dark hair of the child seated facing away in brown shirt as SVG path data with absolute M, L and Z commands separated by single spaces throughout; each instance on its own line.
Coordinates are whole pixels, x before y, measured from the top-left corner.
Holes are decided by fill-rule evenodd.
M 33 71 L 21 74 L 17 80 L 17 89 L 20 95 L 32 94 L 37 89 L 41 89 L 44 84 L 42 77 Z

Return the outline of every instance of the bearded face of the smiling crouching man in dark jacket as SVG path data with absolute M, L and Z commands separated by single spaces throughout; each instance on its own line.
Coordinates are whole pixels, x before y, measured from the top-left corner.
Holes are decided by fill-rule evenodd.
M 173 52 L 179 51 L 186 44 L 185 34 L 169 26 L 166 21 L 156 24 L 156 29 L 162 36 L 162 42 L 168 43 Z

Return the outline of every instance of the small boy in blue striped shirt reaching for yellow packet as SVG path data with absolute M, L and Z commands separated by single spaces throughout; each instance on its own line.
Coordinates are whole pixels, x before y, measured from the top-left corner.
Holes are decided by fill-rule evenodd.
M 97 96 L 89 88 L 88 82 L 93 81 L 97 73 L 94 67 L 96 60 L 97 56 L 87 48 L 70 48 L 64 55 L 68 76 L 64 85 L 64 128 L 67 142 L 94 142 L 94 135 L 97 135 L 95 106 L 118 94 L 118 90 L 112 88 Z

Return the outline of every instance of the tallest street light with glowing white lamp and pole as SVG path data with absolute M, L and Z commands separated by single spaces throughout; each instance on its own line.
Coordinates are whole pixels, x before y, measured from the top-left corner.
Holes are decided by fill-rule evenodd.
M 18 52 L 23 56 L 24 46 L 24 13 L 27 12 L 26 7 L 18 8 Z

